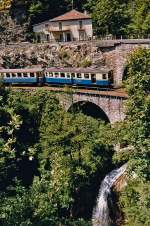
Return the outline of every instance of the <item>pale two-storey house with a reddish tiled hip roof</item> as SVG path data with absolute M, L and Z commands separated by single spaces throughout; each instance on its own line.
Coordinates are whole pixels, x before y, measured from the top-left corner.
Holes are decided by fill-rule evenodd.
M 33 26 L 39 42 L 90 40 L 92 19 L 86 13 L 71 10 L 61 16 Z

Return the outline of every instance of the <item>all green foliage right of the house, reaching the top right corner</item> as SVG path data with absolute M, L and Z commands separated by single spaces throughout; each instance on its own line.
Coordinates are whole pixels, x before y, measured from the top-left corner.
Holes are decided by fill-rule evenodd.
M 149 0 L 88 0 L 96 34 L 144 37 L 149 34 Z

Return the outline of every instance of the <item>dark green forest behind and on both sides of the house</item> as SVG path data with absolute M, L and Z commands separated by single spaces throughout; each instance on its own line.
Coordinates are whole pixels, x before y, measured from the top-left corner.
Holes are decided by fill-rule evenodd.
M 72 9 L 72 0 L 1 0 L 0 10 L 22 8 L 31 24 L 42 22 Z M 147 37 L 150 34 L 149 0 L 75 0 L 73 8 L 86 10 L 93 18 L 96 35 Z

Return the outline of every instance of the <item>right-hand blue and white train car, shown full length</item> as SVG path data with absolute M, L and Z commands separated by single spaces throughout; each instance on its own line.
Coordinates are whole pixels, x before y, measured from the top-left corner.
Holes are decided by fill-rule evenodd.
M 46 84 L 103 87 L 112 84 L 112 70 L 108 68 L 47 68 L 44 74 Z

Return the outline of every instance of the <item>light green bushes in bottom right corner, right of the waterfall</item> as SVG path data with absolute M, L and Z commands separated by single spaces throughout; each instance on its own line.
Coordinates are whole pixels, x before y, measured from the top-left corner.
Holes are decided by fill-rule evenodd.
M 121 195 L 127 226 L 149 226 L 150 224 L 150 183 L 134 179 Z

